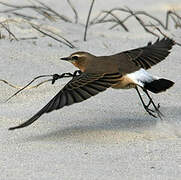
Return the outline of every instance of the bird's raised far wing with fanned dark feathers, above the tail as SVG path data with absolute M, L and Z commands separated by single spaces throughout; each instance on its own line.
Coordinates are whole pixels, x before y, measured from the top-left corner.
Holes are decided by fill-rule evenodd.
M 151 66 L 164 60 L 174 44 L 175 42 L 172 39 L 163 38 L 161 40 L 158 39 L 153 44 L 149 42 L 145 47 L 124 51 L 122 53 L 127 55 L 128 59 L 135 63 L 136 66 L 149 69 Z

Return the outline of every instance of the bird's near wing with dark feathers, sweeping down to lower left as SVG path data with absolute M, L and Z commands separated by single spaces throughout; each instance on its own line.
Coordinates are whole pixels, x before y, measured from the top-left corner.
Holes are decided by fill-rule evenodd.
M 82 73 L 70 80 L 64 88 L 28 121 L 9 130 L 26 127 L 36 121 L 42 114 L 84 101 L 106 90 L 121 78 L 120 73 L 88 74 Z

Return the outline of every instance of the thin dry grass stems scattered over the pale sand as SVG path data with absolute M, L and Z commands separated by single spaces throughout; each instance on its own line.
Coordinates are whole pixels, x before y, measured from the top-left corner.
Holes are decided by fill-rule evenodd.
M 43 27 L 42 25 L 38 25 L 38 24 L 35 24 L 32 22 L 32 20 L 41 19 L 41 20 L 44 20 L 45 22 L 46 22 L 46 20 L 48 20 L 48 21 L 64 21 L 67 23 L 78 23 L 78 20 L 79 20 L 78 13 L 77 13 L 77 10 L 75 9 L 75 7 L 73 6 L 73 4 L 71 3 L 71 1 L 67 0 L 67 3 L 69 4 L 69 7 L 72 9 L 72 11 L 74 13 L 74 20 L 60 14 L 59 12 L 56 12 L 54 9 L 52 9 L 45 3 L 40 2 L 39 0 L 34 0 L 34 3 L 32 3 L 32 2 L 30 5 L 21 5 L 21 6 L 17 6 L 17 5 L 13 5 L 13 4 L 5 3 L 5 2 L 0 2 L 1 5 L 7 7 L 7 9 L 0 11 L 0 13 L 8 14 L 11 16 L 11 17 L 5 19 L 4 21 L 0 22 L 0 27 L 1 27 L 0 39 L 7 38 L 7 36 L 4 33 L 2 33 L 2 29 L 8 33 L 8 38 L 10 39 L 10 41 L 38 39 L 39 38 L 38 36 L 28 37 L 28 38 L 24 38 L 24 37 L 17 38 L 16 35 L 9 28 L 9 25 L 12 23 L 14 23 L 15 25 L 17 25 L 19 23 L 26 23 L 31 28 L 40 32 L 44 36 L 52 38 L 55 41 L 65 45 L 65 46 L 68 46 L 70 48 L 75 48 L 75 45 L 73 45 L 67 38 L 63 37 L 60 33 L 56 33 L 55 31 L 51 30 L 50 28 L 48 29 L 48 28 Z M 113 8 L 109 11 L 104 10 L 104 11 L 101 11 L 96 17 L 94 17 L 90 21 L 90 16 L 91 16 L 93 5 L 94 5 L 94 0 L 92 0 L 92 3 L 90 4 L 90 8 L 89 8 L 89 12 L 88 12 L 88 16 L 87 16 L 87 20 L 86 20 L 86 24 L 85 24 L 84 41 L 86 41 L 86 39 L 87 39 L 88 27 L 91 25 L 99 24 L 99 23 L 111 23 L 110 29 L 114 29 L 115 27 L 120 26 L 123 30 L 125 30 L 126 32 L 129 33 L 130 28 L 125 23 L 128 20 L 130 20 L 131 18 L 134 18 L 138 22 L 138 24 L 144 29 L 144 31 L 152 34 L 153 36 L 156 36 L 157 38 L 159 38 L 160 35 L 164 36 L 164 37 L 168 37 L 165 33 L 163 33 L 161 31 L 161 29 L 163 29 L 164 31 L 168 31 L 171 23 L 174 24 L 174 28 L 181 28 L 181 16 L 177 12 L 171 11 L 171 10 L 166 12 L 165 22 L 163 20 L 149 14 L 148 12 L 133 11 L 129 8 Z M 27 15 L 27 14 L 20 12 L 21 10 L 24 10 L 24 9 L 30 9 L 30 10 L 36 12 L 37 15 L 32 16 L 32 15 L 29 15 L 29 14 Z M 118 14 L 119 14 L 119 16 L 118 16 Z M 121 19 L 120 17 L 122 17 L 122 15 L 125 15 L 125 14 L 126 14 L 126 16 L 123 19 Z M 20 18 L 21 21 L 18 21 L 16 19 L 17 17 Z M 145 17 L 147 18 L 147 22 L 149 22 L 149 23 L 145 22 Z M 143 20 L 143 18 L 144 18 L 144 20 Z M 155 32 L 155 30 L 157 32 Z M 178 42 L 176 42 L 176 44 L 181 46 L 181 44 Z M 71 73 L 64 73 L 64 74 L 67 74 L 67 76 L 60 75 L 61 78 L 72 77 L 72 76 L 70 76 Z M 69 76 L 68 76 L 68 74 L 69 74 Z M 48 80 L 40 82 L 39 84 L 37 84 L 35 86 L 31 86 L 31 87 L 29 86 L 36 79 L 42 78 L 42 77 L 48 77 L 48 76 L 53 77 L 53 75 L 40 75 L 38 77 L 35 77 L 30 83 L 28 83 L 24 87 L 19 87 L 19 86 L 13 85 L 3 79 L 0 79 L 0 81 L 3 83 L 6 83 L 10 87 L 19 89 L 15 94 L 13 94 L 10 98 L 8 98 L 8 100 L 9 100 L 24 89 L 36 88 L 48 81 L 52 81 L 53 79 L 48 79 Z

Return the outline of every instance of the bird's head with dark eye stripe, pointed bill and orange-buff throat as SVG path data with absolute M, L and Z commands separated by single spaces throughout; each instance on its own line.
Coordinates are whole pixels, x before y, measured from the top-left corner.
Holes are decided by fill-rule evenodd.
M 87 65 L 95 56 L 87 52 L 75 52 L 68 57 L 60 58 L 61 60 L 68 61 L 74 66 L 78 67 L 82 72 L 85 71 Z

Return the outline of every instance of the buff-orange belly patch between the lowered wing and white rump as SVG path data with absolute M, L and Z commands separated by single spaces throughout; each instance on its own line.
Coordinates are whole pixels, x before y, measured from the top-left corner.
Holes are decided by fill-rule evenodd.
M 127 76 L 123 76 L 122 78 L 120 78 L 120 81 L 113 85 L 112 88 L 114 89 L 130 89 L 130 88 L 135 88 L 137 86 L 137 84 L 135 84 L 135 82 L 128 78 Z

